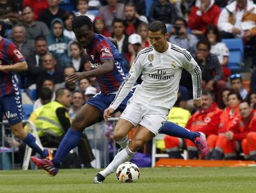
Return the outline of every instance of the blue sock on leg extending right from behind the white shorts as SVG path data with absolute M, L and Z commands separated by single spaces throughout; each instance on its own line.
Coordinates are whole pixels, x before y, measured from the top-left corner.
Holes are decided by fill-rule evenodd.
M 170 136 L 176 136 L 183 139 L 190 139 L 191 141 L 194 141 L 196 136 L 200 136 L 198 132 L 190 132 L 190 130 L 187 130 L 170 121 L 165 122 L 165 125 L 163 125 L 159 133 L 167 134 Z

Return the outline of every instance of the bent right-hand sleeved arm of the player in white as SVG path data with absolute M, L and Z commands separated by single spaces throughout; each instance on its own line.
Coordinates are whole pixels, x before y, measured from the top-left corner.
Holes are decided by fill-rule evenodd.
M 183 68 L 190 72 L 192 76 L 193 83 L 193 98 L 194 106 L 199 107 L 202 104 L 202 74 L 199 65 L 194 61 L 193 57 L 188 51 L 186 51 L 186 56 L 183 55 Z

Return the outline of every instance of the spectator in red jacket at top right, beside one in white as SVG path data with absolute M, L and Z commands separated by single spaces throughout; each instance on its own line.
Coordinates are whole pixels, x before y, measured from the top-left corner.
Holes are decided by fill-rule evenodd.
M 188 16 L 188 27 L 192 34 L 202 36 L 209 24 L 217 26 L 221 9 L 214 4 L 214 0 L 196 1 Z

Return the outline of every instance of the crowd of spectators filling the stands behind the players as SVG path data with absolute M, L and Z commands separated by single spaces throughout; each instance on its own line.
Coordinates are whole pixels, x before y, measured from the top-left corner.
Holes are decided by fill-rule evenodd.
M 17 76 L 21 88 L 36 89 L 37 94 L 41 88 L 49 88 L 53 92 L 51 101 L 55 101 L 55 90 L 65 88 L 73 97 L 69 109 L 73 117 L 81 100 L 84 102 L 100 92 L 94 77 L 79 83 L 65 82 L 65 77 L 73 72 L 90 70 L 89 56 L 71 30 L 73 16 L 87 15 L 98 33 L 116 39 L 127 69 L 138 52 L 150 45 L 148 23 L 165 21 L 168 41 L 192 54 L 199 63 L 203 79 L 203 106 L 196 110 L 189 103 L 192 79 L 183 71 L 181 101 L 170 112 L 170 121 L 172 117 L 183 119 L 186 116 L 183 126 L 204 132 L 211 150 L 208 159 L 237 159 L 238 153 L 244 152 L 244 159 L 256 160 L 256 145 L 252 145 L 256 143 L 253 122 L 256 119 L 256 54 L 249 56 L 251 63 L 244 63 L 251 65 L 247 73 L 250 75 L 242 77 L 241 72 L 228 68 L 229 50 L 221 42 L 223 38 L 241 38 L 246 48 L 255 53 L 255 1 L 154 0 L 149 12 L 146 0 L 70 2 L 74 5 L 72 11 L 62 9 L 60 0 L 0 1 L 0 19 L 4 24 L 1 34 L 17 44 L 28 63 L 28 71 Z M 249 87 L 244 88 L 243 78 L 250 79 Z M 41 99 L 37 99 L 34 110 L 42 105 Z M 176 113 L 180 115 L 174 116 Z M 179 120 L 174 122 L 179 123 Z M 179 150 L 187 148 L 189 158 L 199 158 L 194 145 L 184 140 L 167 137 L 165 145 L 171 157 L 181 158 Z

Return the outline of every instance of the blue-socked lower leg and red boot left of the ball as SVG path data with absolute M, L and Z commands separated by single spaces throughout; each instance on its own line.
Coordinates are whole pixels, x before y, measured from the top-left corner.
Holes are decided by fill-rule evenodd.
M 82 132 L 76 132 L 72 129 L 69 129 L 66 132 L 62 142 L 60 143 L 59 147 L 57 148 L 57 152 L 53 158 L 53 160 L 49 159 L 38 159 L 35 156 L 31 157 L 31 161 L 37 165 L 37 167 L 46 170 L 50 176 L 55 176 L 59 170 L 59 167 L 67 156 L 68 152 L 70 152 L 77 143 L 80 141 L 82 136 Z

